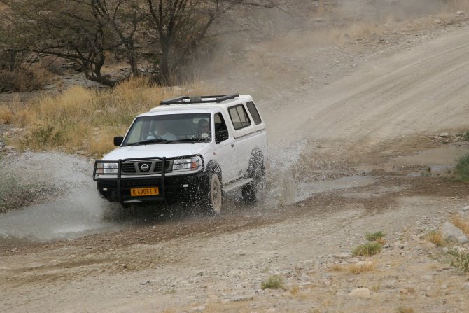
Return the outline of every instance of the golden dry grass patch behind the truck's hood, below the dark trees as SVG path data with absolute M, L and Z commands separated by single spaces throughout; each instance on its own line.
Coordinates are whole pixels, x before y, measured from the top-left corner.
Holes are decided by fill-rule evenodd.
M 202 94 L 202 85 L 162 88 L 146 78 L 133 78 L 112 90 L 80 86 L 57 95 L 41 95 L 27 103 L 18 98 L 0 106 L 0 122 L 25 127 L 18 148 L 36 151 L 63 148 L 101 157 L 113 148 L 113 137 L 123 135 L 135 116 L 158 106 L 162 99 L 183 93 Z

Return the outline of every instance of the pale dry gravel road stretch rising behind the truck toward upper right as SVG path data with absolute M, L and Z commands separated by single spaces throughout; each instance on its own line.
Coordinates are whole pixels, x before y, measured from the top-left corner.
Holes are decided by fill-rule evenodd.
M 395 139 L 468 125 L 469 27 L 365 69 L 267 116 L 274 144 L 304 136 L 325 144 Z M 286 118 L 288 116 L 288 118 Z M 282 125 L 283 127 L 279 126 Z

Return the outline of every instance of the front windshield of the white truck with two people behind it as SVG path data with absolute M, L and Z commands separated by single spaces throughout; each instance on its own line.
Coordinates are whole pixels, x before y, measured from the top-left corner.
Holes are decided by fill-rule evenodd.
M 130 127 L 123 146 L 211 141 L 210 114 L 141 116 Z

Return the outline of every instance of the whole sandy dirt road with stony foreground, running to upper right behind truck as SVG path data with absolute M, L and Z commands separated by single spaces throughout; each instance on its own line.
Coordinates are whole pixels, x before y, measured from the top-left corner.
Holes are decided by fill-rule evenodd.
M 173 209 L 98 235 L 2 241 L 0 311 L 465 312 L 468 274 L 421 238 L 469 203 L 448 174 L 469 152 L 456 136 L 469 129 L 469 27 L 419 32 L 323 50 L 352 57 L 301 90 L 286 73 L 279 97 L 260 99 L 276 202 L 230 197 L 217 217 Z M 320 76 L 316 54 L 289 55 L 304 64 L 291 75 Z M 376 230 L 381 253 L 349 255 Z M 375 267 L 350 270 L 360 262 Z M 274 274 L 283 288 L 262 289 Z

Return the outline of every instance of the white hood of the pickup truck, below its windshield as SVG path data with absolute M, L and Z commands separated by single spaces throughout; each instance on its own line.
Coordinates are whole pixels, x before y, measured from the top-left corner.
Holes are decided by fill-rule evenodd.
M 209 143 L 147 144 L 116 148 L 104 156 L 103 160 L 123 160 L 129 158 L 166 157 L 174 158 L 185 155 L 202 154 Z

